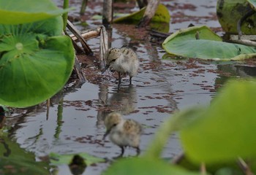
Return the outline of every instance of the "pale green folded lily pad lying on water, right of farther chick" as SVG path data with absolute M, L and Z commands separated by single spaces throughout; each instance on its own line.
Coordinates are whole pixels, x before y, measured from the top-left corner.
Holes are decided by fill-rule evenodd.
M 222 42 L 207 26 L 176 31 L 165 39 L 162 47 L 172 55 L 206 60 L 244 60 L 256 56 L 254 47 Z

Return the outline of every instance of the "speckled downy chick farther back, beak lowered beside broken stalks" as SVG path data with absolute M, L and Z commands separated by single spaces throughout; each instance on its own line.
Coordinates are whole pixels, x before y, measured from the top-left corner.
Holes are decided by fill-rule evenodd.
M 102 74 L 108 69 L 118 72 L 118 84 L 121 83 L 121 74 L 129 75 L 129 84 L 132 84 L 132 77 L 138 74 L 139 60 L 136 53 L 127 47 L 110 48 L 105 53 L 106 66 Z

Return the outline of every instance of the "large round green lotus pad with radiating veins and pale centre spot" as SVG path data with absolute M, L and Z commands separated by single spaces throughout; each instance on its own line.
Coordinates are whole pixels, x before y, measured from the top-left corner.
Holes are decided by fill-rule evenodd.
M 55 29 L 48 28 L 45 34 L 59 33 Z M 75 59 L 71 39 L 37 33 L 42 30 L 33 28 L 33 24 L 0 25 L 0 104 L 39 104 L 55 95 L 69 79 Z

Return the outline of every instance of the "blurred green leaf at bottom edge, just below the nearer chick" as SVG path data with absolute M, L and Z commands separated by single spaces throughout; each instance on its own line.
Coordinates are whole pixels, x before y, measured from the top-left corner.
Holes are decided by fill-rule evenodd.
M 165 163 L 159 159 L 148 159 L 148 158 L 128 158 L 118 160 L 113 163 L 105 175 L 112 174 L 140 174 L 140 175 L 155 175 L 155 174 L 176 174 L 176 175 L 196 175 L 200 173 L 189 172 L 178 166 L 172 166 L 170 163 Z

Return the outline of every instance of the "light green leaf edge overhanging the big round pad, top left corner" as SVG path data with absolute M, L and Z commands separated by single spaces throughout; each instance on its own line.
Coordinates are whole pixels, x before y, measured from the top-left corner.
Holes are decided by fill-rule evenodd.
M 0 24 L 31 23 L 68 12 L 59 9 L 50 0 L 0 0 Z

